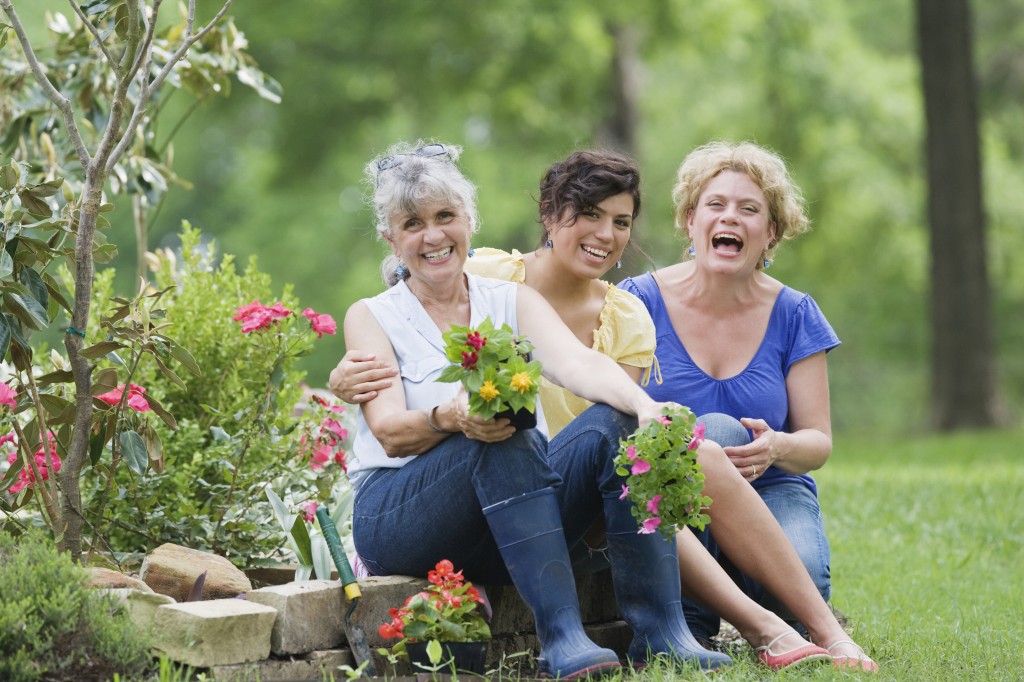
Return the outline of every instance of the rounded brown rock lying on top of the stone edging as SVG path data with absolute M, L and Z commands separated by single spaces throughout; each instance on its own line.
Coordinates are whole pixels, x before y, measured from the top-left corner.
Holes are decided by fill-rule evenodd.
M 206 571 L 204 599 L 247 594 L 252 583 L 224 557 L 168 543 L 153 550 L 142 562 L 139 576 L 154 592 L 185 601 L 196 579 Z

